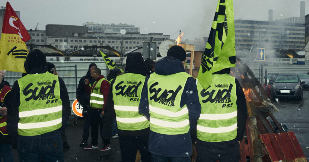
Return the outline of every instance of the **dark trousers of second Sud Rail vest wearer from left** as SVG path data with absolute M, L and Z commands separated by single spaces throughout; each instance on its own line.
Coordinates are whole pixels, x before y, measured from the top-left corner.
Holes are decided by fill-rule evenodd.
M 151 161 L 151 154 L 148 152 L 148 140 L 149 135 L 119 135 L 121 161 L 135 162 L 137 150 L 141 153 L 142 161 Z

